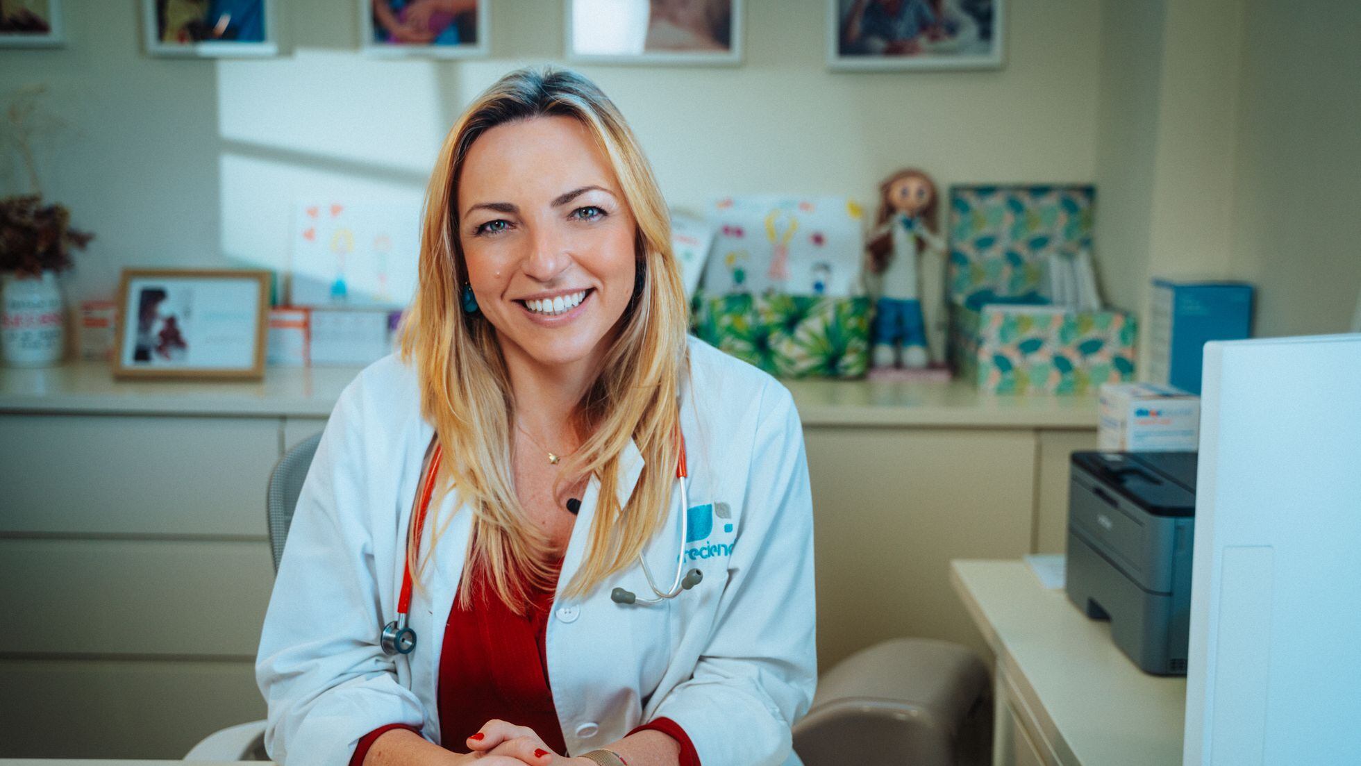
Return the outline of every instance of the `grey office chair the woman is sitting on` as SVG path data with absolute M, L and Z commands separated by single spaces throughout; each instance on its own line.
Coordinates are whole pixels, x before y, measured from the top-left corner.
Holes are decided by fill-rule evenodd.
M 302 494 L 302 482 L 308 478 L 312 457 L 321 444 L 316 434 L 289 449 L 269 472 L 265 491 L 264 512 L 269 527 L 269 548 L 274 552 L 274 570 L 279 571 L 283 559 L 283 544 L 289 539 L 289 525 L 293 512 Z M 184 756 L 185 761 L 269 761 L 264 750 L 264 721 L 238 724 L 204 737 Z

